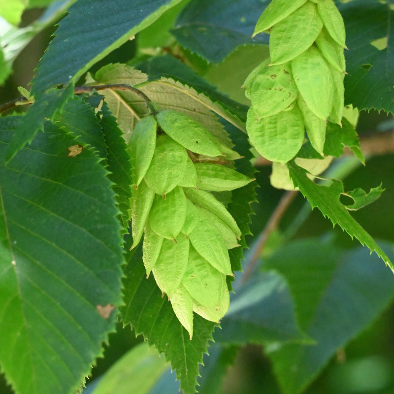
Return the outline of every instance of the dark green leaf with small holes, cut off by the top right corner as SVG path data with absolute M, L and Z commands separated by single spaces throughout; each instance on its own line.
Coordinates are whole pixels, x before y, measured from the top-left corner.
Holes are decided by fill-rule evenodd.
M 394 113 L 394 10 L 390 2 L 353 0 L 340 6 L 346 27 L 345 104 Z M 387 38 L 382 49 L 374 40 Z

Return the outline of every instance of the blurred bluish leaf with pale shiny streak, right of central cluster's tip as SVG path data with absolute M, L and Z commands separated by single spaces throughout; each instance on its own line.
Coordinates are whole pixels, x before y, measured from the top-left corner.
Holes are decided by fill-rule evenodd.
M 296 323 L 294 304 L 284 279 L 276 273 L 255 276 L 231 297 L 230 309 L 215 332 L 226 344 L 305 340 Z

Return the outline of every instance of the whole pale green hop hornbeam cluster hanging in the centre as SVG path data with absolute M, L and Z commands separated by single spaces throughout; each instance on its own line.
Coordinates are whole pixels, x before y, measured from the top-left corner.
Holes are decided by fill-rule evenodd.
M 158 128 L 158 126 L 160 126 Z M 193 311 L 218 322 L 233 275 L 228 249 L 241 236 L 225 205 L 210 192 L 230 191 L 251 178 L 218 161 L 240 158 L 195 120 L 172 110 L 142 118 L 130 140 L 135 247 L 181 322 L 193 335 Z M 213 163 L 211 163 L 213 162 Z

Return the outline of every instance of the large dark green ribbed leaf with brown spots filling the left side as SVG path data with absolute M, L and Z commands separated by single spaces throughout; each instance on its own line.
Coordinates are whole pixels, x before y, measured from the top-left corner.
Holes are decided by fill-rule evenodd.
M 75 139 L 54 126 L 5 165 L 19 122 L 0 119 L 0 362 L 17 393 L 68 394 L 122 303 L 119 211 L 93 150 L 69 157 Z

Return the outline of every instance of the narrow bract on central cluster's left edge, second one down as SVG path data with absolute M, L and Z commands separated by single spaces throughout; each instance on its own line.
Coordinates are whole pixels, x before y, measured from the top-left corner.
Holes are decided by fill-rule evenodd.
M 146 221 L 148 220 L 155 192 L 142 181 L 138 189 L 132 188 L 132 208 L 131 208 L 131 249 L 138 245 L 144 232 Z

